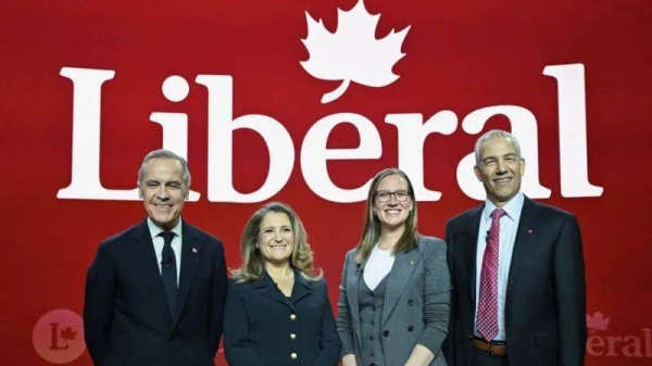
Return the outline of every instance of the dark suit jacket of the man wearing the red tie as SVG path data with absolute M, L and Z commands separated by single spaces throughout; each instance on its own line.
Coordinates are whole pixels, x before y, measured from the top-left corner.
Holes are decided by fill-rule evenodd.
M 482 209 L 451 218 L 446 228 L 453 307 L 444 353 L 451 366 L 471 366 Z M 525 198 L 504 312 L 510 366 L 584 365 L 585 265 L 574 215 Z

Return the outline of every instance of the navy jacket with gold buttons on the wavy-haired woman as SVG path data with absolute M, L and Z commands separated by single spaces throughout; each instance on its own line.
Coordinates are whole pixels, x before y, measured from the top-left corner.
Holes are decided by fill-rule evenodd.
M 308 281 L 294 269 L 289 299 L 264 270 L 258 280 L 230 282 L 224 320 L 229 365 L 335 366 L 340 346 L 323 279 Z

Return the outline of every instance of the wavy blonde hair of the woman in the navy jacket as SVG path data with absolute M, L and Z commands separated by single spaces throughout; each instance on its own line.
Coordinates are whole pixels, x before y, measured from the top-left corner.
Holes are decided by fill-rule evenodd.
M 290 267 L 298 269 L 303 278 L 316 281 L 323 277 L 322 269 L 313 267 L 313 251 L 306 242 L 308 235 L 301 219 L 287 204 L 279 202 L 267 203 L 256 211 L 244 226 L 240 239 L 240 255 L 242 264 L 239 268 L 231 270 L 231 276 L 237 282 L 248 282 L 261 278 L 265 270 L 265 258 L 256 247 L 261 224 L 268 213 L 284 213 L 288 215 L 294 236 L 294 245 L 290 255 Z

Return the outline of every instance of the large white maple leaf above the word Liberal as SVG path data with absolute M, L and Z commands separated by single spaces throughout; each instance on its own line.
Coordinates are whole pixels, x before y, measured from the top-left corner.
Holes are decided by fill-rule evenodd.
M 317 22 L 305 12 L 308 36 L 301 41 L 310 58 L 301 61 L 301 66 L 318 79 L 342 80 L 322 97 L 322 103 L 341 97 L 351 81 L 376 88 L 392 84 L 399 76 L 391 68 L 405 55 L 401 46 L 410 26 L 399 33 L 391 29 L 385 38 L 376 39 L 380 14 L 369 14 L 363 0 L 348 12 L 338 9 L 337 17 L 337 30 L 330 33 L 322 20 Z

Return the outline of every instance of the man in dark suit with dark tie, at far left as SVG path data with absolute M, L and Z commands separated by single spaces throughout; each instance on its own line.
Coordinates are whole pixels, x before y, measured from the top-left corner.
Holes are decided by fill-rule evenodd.
M 181 220 L 190 171 L 166 150 L 138 174 L 148 218 L 100 244 L 84 331 L 96 365 L 214 365 L 227 277 L 222 242 Z

